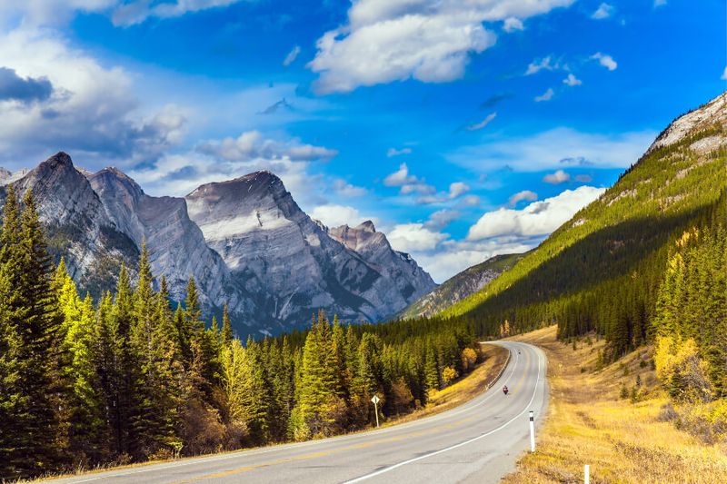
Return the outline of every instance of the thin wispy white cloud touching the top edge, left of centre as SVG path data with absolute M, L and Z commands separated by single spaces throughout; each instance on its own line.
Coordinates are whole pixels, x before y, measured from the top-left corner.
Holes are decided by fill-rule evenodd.
M 141 24 L 150 17 L 172 18 L 190 12 L 236 4 L 240 0 L 175 0 L 174 2 L 154 3 L 149 0 L 136 0 L 116 7 L 112 21 L 114 25 Z

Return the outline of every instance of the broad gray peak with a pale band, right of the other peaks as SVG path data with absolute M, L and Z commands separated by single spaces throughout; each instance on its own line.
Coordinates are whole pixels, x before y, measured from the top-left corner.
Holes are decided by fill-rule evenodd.
M 427 284 L 393 280 L 406 275 L 383 271 L 367 262 L 369 255 L 336 240 L 298 207 L 273 173 L 208 183 L 186 201 L 208 245 L 254 294 L 266 321 L 279 327 L 304 326 L 318 309 L 348 321 L 380 321 Z M 364 246 L 373 260 L 376 244 Z M 428 274 L 424 279 L 433 287 Z

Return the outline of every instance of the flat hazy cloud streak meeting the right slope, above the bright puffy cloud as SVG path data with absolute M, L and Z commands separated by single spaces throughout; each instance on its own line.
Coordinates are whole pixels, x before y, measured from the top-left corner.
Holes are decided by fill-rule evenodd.
M 497 138 L 488 143 L 465 146 L 447 160 L 478 172 L 509 166 L 517 172 L 541 172 L 563 168 L 563 164 L 598 168 L 627 168 L 641 157 L 658 133 L 582 133 L 555 128 L 529 136 Z

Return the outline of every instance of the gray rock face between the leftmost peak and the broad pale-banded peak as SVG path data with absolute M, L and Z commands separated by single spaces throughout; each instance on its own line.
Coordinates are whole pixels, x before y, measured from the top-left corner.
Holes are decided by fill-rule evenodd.
M 208 311 L 220 310 L 226 301 L 233 316 L 254 312 L 222 258 L 207 247 L 202 231 L 189 219 L 183 198 L 149 196 L 115 168 L 94 173 L 89 181 L 118 230 L 137 247 L 146 241 L 153 271 L 164 274 L 174 299 L 184 299 L 186 283 L 194 276 Z

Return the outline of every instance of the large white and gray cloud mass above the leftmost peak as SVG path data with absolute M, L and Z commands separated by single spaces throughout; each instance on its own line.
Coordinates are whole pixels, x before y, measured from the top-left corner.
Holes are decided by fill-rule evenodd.
M 154 160 L 183 139 L 187 110 L 170 104 L 141 113 L 124 69 L 45 29 L 15 29 L 0 44 L 0 83 L 15 99 L 0 103 L 0 116 L 13 120 L 0 123 L 0 157 L 35 163 L 62 147 L 84 163 L 123 165 Z

